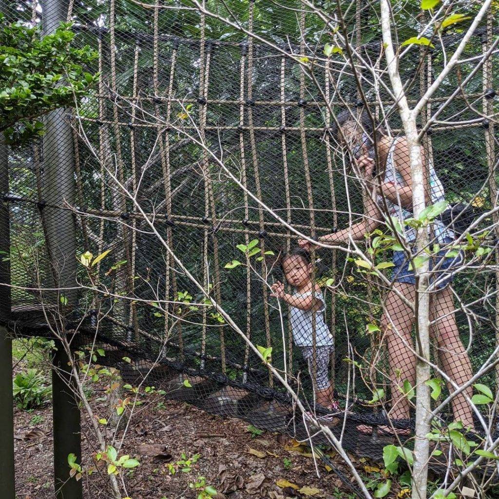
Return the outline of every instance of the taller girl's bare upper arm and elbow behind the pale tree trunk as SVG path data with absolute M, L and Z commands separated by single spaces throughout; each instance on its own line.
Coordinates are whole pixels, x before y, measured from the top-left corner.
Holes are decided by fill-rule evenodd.
M 412 177 L 411 177 L 411 156 L 407 139 L 404 137 L 399 140 L 395 147 L 393 159 L 395 161 L 397 171 L 402 175 L 405 186 L 384 182 L 381 184 L 381 194 L 386 196 L 392 203 L 401 204 L 404 208 L 412 208 Z M 421 147 L 421 159 L 423 165 L 426 165 L 425 151 Z M 424 183 L 425 183 L 425 198 L 426 203 L 430 202 L 428 193 L 428 168 L 423 168 Z

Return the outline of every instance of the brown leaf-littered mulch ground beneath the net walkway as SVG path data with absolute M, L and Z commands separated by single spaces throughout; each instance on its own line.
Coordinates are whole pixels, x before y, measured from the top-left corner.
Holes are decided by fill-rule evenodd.
M 32 364 L 22 360 L 14 372 Z M 43 366 L 39 369 L 43 371 Z M 49 373 L 45 376 L 48 381 Z M 98 384 L 89 398 L 96 413 L 109 409 L 104 388 Z M 50 403 L 30 412 L 15 407 L 14 421 L 16 499 L 53 498 Z M 82 453 L 87 457 L 98 451 L 88 422 L 88 418 L 82 418 Z M 122 433 L 108 435 L 109 440 L 113 437 L 121 439 Z M 356 497 L 320 461 L 316 463 L 317 476 L 306 446 L 257 430 L 241 420 L 165 400 L 159 394 L 153 394 L 137 411 L 124 438 L 123 454 L 140 461 L 139 467 L 124 476 L 126 495 L 131 499 L 195 499 L 197 494 L 190 484 L 196 484 L 199 477 L 205 477 L 206 485 L 218 491 L 219 499 Z M 189 459 L 195 462 L 182 462 Z M 348 476 L 338 456 L 332 455 L 331 460 Z M 383 479 L 373 463 L 357 463 L 365 469 L 366 478 L 374 470 Z M 82 464 L 86 466 L 85 461 Z M 83 488 L 87 499 L 111 497 L 106 467 L 98 467 L 90 477 L 84 477 Z

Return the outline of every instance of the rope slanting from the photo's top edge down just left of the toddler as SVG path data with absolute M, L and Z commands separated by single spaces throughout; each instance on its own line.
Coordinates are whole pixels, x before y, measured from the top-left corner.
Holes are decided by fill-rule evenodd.
M 253 31 L 253 21 L 254 21 L 254 2 L 250 2 L 250 19 L 249 19 L 249 31 Z M 250 36 L 248 39 L 248 100 L 251 101 L 253 95 L 253 85 L 252 85 L 252 73 L 253 73 L 253 38 Z M 253 125 L 253 111 L 251 106 L 248 106 L 248 126 L 250 129 L 250 149 L 251 149 L 251 163 L 253 164 L 253 174 L 256 188 L 256 196 L 261 199 L 261 185 L 260 185 L 260 175 L 258 172 L 258 158 L 256 151 L 256 140 L 254 136 L 254 125 Z M 263 212 L 258 210 L 258 227 L 260 230 L 261 240 L 260 240 L 260 255 L 265 258 L 265 225 L 263 222 Z M 263 261 L 263 260 L 262 260 Z M 262 269 L 265 266 L 262 265 Z M 267 276 L 262 275 L 263 280 L 266 280 Z M 262 294 L 263 294 L 263 319 L 265 322 L 265 342 L 267 348 L 271 346 L 272 340 L 270 338 L 270 320 L 268 315 L 268 292 L 265 283 L 262 284 Z M 268 371 L 268 384 L 273 387 L 273 378 L 270 370 Z

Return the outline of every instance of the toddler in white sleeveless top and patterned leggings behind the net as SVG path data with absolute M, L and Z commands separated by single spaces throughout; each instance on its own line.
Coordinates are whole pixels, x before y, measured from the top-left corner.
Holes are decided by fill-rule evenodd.
M 338 412 L 339 406 L 333 399 L 333 388 L 328 375 L 334 340 L 324 320 L 324 297 L 320 287 L 312 282 L 312 264 L 308 253 L 302 249 L 287 253 L 282 258 L 282 270 L 287 282 L 296 292 L 294 294 L 284 292 L 284 284 L 277 281 L 272 284 L 271 296 L 282 299 L 291 306 L 290 321 L 294 344 L 300 348 L 303 358 L 307 361 L 312 380 L 315 371 L 314 392 L 317 404 Z M 315 359 L 312 351 L 314 334 Z

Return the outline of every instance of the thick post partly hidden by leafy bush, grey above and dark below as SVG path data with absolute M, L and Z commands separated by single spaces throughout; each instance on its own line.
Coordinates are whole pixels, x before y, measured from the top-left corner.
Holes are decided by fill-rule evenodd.
M 67 2 L 41 0 L 43 34 L 55 31 L 66 20 Z M 57 109 L 44 118 L 42 206 L 51 287 L 56 292 L 44 293 L 45 302 L 58 306 L 62 314 L 76 306 L 76 224 L 74 216 L 60 208 L 74 206 L 74 152 L 72 130 L 65 109 Z M 60 306 L 64 304 L 64 307 Z M 67 308 L 66 308 L 67 306 Z M 64 320 L 61 321 L 64 323 Z M 58 331 L 65 334 L 64 330 Z M 61 343 L 57 345 L 52 367 L 52 408 L 54 434 L 54 488 L 56 499 L 81 499 L 81 481 L 69 476 L 67 457 L 75 454 L 81 463 L 80 411 L 72 390 L 69 359 Z

